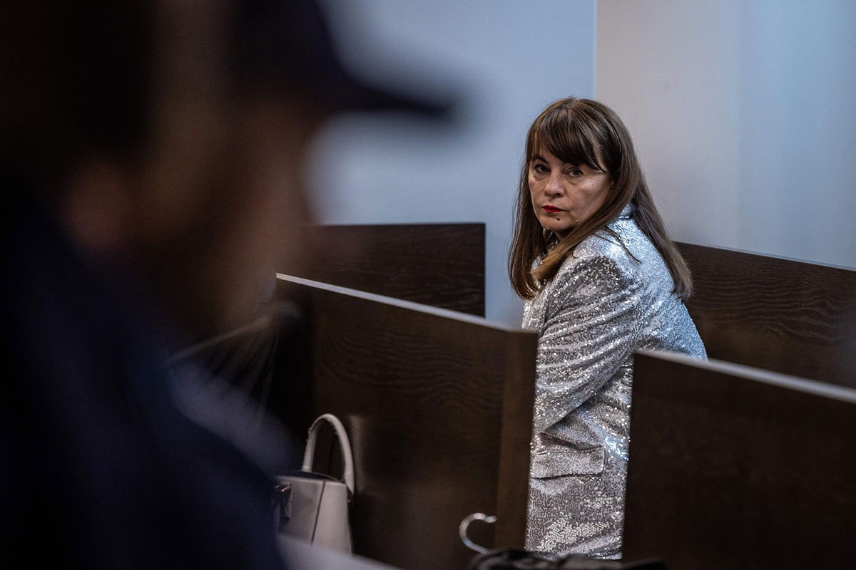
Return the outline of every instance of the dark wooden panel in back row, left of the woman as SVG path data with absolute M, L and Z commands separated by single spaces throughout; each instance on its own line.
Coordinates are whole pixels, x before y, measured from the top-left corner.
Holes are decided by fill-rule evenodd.
M 299 277 L 484 316 L 484 224 L 314 226 Z

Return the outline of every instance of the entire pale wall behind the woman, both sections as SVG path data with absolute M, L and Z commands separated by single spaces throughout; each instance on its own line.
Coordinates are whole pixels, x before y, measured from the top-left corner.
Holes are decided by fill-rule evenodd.
M 856 267 L 856 3 L 326 0 L 357 73 L 458 92 L 458 120 L 347 115 L 310 179 L 331 224 L 480 221 L 486 311 L 506 277 L 526 129 L 559 97 L 627 122 L 675 239 Z

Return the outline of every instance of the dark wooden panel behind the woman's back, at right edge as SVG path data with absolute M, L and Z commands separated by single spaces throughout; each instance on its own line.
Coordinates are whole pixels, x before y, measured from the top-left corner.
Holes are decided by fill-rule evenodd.
M 856 387 L 856 271 L 678 244 L 708 355 Z

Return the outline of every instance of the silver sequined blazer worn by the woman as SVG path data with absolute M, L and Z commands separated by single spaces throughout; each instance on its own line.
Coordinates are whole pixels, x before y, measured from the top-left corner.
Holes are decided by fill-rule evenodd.
M 633 352 L 705 358 L 651 241 L 629 216 L 564 261 L 526 302 L 540 333 L 526 549 L 621 557 Z M 627 247 L 633 257 L 629 256 Z

